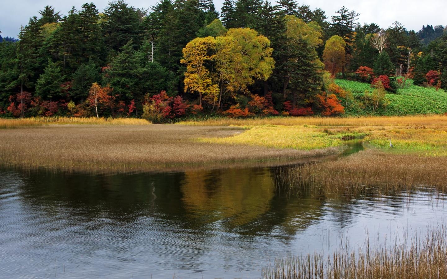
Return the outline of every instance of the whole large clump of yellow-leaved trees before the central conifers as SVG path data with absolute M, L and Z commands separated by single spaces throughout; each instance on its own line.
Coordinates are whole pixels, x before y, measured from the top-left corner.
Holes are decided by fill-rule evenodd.
M 183 49 L 186 64 L 185 91 L 198 92 L 213 109 L 221 108 L 223 97 L 248 92 L 255 80 L 267 80 L 274 60 L 270 41 L 249 28 L 230 29 L 224 36 L 195 38 Z M 216 104 L 217 102 L 217 104 Z

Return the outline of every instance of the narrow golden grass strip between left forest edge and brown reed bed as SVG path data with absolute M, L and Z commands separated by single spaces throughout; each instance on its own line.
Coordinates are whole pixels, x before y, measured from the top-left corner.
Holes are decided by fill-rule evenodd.
M 148 125 L 151 122 L 139 118 L 96 118 L 96 117 L 30 117 L 19 119 L 0 118 L 0 129 L 35 127 L 49 124 L 87 125 Z

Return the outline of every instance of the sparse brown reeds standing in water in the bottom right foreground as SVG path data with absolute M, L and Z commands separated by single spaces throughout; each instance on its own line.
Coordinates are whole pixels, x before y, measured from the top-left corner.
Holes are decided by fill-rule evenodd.
M 447 278 L 447 227 L 428 227 L 388 246 L 370 243 L 352 249 L 349 242 L 331 255 L 277 258 L 262 271 L 264 279 L 439 279 Z

